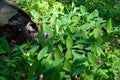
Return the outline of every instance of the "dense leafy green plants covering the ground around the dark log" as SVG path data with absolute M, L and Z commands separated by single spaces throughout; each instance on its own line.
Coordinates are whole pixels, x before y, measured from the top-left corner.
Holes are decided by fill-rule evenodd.
M 119 80 L 120 28 L 99 17 L 97 9 L 90 13 L 72 4 L 69 10 L 50 1 L 19 0 L 41 25 L 38 44 L 11 48 L 0 38 L 0 79 L 38 80 L 42 75 L 44 80 Z

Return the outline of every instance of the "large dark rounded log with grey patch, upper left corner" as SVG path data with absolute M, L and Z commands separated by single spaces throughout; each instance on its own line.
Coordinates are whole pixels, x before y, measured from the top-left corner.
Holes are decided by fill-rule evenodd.
M 29 15 L 6 0 L 0 0 L 0 37 L 6 37 L 11 46 L 27 39 L 37 42 L 38 27 Z

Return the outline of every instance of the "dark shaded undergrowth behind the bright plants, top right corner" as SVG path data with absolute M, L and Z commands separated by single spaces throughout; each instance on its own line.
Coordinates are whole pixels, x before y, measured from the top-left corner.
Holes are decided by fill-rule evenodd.
M 84 5 L 88 12 L 93 10 L 99 10 L 100 17 L 104 19 L 113 18 L 115 26 L 120 25 L 120 1 L 119 0 L 57 0 L 62 2 L 67 9 L 71 9 L 72 2 L 75 3 L 75 6 L 79 7 Z

